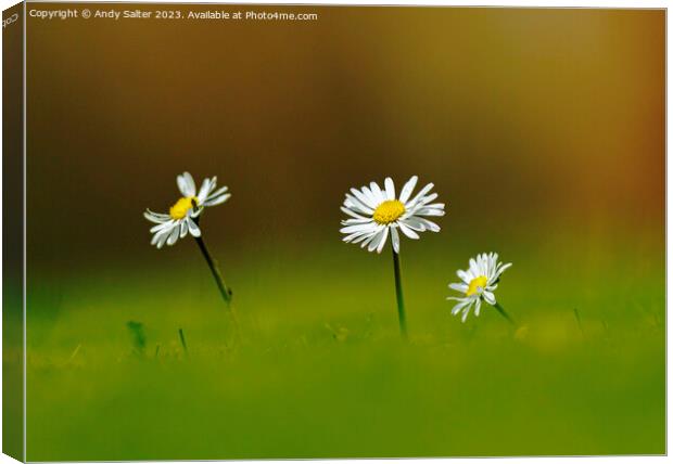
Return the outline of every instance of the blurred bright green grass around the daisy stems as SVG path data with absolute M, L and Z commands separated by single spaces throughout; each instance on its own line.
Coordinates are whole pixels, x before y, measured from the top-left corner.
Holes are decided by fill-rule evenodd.
M 241 343 L 191 243 L 151 252 L 162 267 L 46 279 L 29 294 L 28 459 L 665 452 L 660 249 L 500 249 L 512 328 L 492 308 L 450 317 L 455 269 L 490 249 L 439 243 L 403 243 L 408 344 L 389 254 L 348 245 L 224 260 Z

